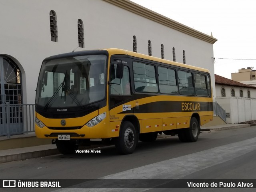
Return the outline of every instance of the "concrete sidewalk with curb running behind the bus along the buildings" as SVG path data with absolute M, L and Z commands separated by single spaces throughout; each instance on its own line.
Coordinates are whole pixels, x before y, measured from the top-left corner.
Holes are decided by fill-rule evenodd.
M 256 124 L 227 124 L 227 125 L 218 125 L 218 126 L 212 126 L 212 127 L 204 127 L 202 129 L 210 129 L 211 131 L 222 131 L 222 130 L 228 130 L 228 129 L 251 127 L 255 125 Z M 158 138 L 162 138 L 162 137 L 170 137 L 170 136 L 168 135 L 158 136 Z M 93 147 L 95 146 L 88 146 L 86 148 L 93 148 Z M 56 148 L 55 144 L 43 144 L 38 146 L 12 148 L 12 149 L 0 150 L 0 163 L 10 162 L 15 160 L 24 160 L 28 158 L 38 158 L 38 157 L 54 155 L 54 154 L 59 154 L 59 151 Z

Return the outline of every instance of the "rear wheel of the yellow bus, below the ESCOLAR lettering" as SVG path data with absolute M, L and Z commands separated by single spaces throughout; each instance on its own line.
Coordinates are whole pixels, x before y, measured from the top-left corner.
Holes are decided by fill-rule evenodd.
M 186 140 L 188 142 L 196 142 L 200 133 L 200 127 L 195 117 L 190 120 L 190 127 L 186 130 Z

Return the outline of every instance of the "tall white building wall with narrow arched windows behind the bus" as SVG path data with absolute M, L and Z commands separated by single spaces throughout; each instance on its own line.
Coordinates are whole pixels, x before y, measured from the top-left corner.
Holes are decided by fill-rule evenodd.
M 56 12 L 58 42 L 50 39 L 50 10 Z M 1 0 L 0 55 L 13 58 L 22 72 L 23 103 L 34 103 L 36 81 L 42 60 L 50 55 L 71 52 L 78 47 L 77 21 L 84 23 L 85 48 L 122 48 L 132 51 L 132 37 L 137 38 L 138 52 L 204 67 L 211 71 L 215 96 L 213 45 L 102 0 Z

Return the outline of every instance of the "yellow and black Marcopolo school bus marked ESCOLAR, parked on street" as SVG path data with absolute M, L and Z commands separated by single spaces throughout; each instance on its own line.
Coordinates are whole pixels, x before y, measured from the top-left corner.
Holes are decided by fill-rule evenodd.
M 212 102 L 207 69 L 122 49 L 77 51 L 42 62 L 35 131 L 63 154 L 90 139 L 130 154 L 162 133 L 197 141 Z

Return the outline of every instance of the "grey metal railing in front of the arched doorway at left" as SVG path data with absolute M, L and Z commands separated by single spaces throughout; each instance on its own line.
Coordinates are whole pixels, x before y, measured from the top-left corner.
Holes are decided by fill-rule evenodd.
M 35 104 L 0 105 L 0 136 L 24 134 L 35 131 Z

